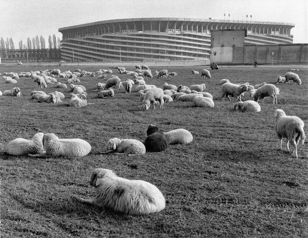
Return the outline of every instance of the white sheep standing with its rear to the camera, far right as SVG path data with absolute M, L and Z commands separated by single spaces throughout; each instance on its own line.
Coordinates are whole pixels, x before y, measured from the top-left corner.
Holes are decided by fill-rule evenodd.
M 277 109 L 274 113 L 275 117 L 275 131 L 279 138 L 279 149 L 282 150 L 282 137 L 287 139 L 287 150 L 290 154 L 294 153 L 295 158 L 297 155 L 297 146 L 304 145 L 305 131 L 304 122 L 296 116 L 286 116 L 286 113 L 282 109 Z M 289 142 L 293 147 L 293 150 L 289 149 Z

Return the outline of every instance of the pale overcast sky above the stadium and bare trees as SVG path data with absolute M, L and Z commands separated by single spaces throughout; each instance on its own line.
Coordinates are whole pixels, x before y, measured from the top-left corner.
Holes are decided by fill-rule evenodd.
M 0 0 L 0 37 L 12 37 L 15 48 L 27 37 L 48 36 L 84 23 L 122 18 L 174 17 L 294 23 L 293 43 L 308 43 L 307 0 Z

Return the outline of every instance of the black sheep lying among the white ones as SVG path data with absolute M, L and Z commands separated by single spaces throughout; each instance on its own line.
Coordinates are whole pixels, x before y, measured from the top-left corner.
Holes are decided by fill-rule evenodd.
M 164 133 L 156 129 L 155 125 L 149 125 L 147 135 L 148 137 L 144 141 L 146 152 L 161 152 L 168 148 L 168 141 Z

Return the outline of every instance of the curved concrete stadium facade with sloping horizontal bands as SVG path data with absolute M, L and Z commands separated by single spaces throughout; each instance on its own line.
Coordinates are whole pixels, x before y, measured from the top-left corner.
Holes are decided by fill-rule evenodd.
M 61 57 L 77 62 L 207 60 L 211 31 L 246 29 L 245 45 L 292 44 L 293 23 L 131 18 L 59 28 Z

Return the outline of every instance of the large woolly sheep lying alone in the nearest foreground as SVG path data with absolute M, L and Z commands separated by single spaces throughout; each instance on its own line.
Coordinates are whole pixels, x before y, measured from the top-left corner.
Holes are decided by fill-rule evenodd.
M 95 188 L 95 199 L 76 197 L 78 201 L 131 215 L 147 215 L 165 208 L 164 196 L 156 186 L 118 177 L 112 170 L 93 170 L 90 185 Z

